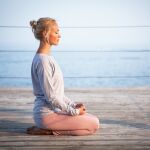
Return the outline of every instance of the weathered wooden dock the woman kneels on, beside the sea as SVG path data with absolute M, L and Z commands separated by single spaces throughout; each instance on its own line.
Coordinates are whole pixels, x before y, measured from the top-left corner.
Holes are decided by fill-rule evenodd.
M 150 88 L 66 89 L 100 119 L 90 136 L 27 135 L 32 89 L 0 89 L 0 150 L 150 150 Z

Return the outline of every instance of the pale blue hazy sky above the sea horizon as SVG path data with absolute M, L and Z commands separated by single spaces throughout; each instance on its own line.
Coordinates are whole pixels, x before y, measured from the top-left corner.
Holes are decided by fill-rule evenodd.
M 83 28 L 150 26 L 150 0 L 0 0 L 0 10 L 0 26 L 56 19 L 61 41 L 55 50 L 150 50 L 150 27 Z M 0 27 L 0 50 L 34 50 L 38 44 L 31 28 Z

